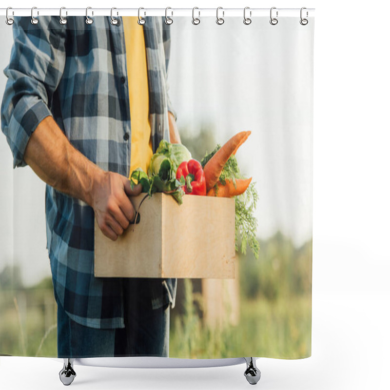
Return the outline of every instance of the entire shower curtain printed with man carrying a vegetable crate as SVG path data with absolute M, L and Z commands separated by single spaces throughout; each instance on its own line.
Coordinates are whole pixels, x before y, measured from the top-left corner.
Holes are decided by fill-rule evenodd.
M 2 18 L 0 354 L 311 355 L 313 18 L 225 19 Z

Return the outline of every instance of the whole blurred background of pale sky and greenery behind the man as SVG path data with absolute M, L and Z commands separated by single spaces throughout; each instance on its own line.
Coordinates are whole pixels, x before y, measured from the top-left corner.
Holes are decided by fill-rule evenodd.
M 259 257 L 237 253 L 236 279 L 181 279 L 170 356 L 299 358 L 311 354 L 312 30 L 241 18 L 171 26 L 169 94 L 193 157 L 238 131 L 236 157 L 259 195 Z M 12 29 L 1 30 L 1 71 Z M 6 78 L 0 74 L 0 97 Z M 12 169 L 0 135 L 0 353 L 57 356 L 56 304 L 46 250 L 44 188 Z

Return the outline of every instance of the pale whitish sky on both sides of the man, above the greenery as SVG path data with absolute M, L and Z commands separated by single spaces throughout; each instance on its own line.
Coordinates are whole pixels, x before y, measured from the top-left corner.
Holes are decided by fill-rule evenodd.
M 301 245 L 312 237 L 312 27 L 280 19 L 275 29 L 266 19 L 246 26 L 229 18 L 218 26 L 202 18 L 194 26 L 176 17 L 169 94 L 179 131 L 196 137 L 208 123 L 218 143 L 252 131 L 236 157 L 259 193 L 258 235 L 280 230 Z M 2 99 L 12 29 L 5 23 L 0 29 Z M 26 285 L 50 275 L 44 191 L 29 167 L 12 168 L 0 134 L 0 271 L 20 264 Z

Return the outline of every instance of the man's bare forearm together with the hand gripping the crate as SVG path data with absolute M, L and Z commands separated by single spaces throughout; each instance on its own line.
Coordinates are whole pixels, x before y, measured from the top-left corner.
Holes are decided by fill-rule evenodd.
M 25 162 L 47 184 L 90 205 L 99 228 L 116 240 L 135 217 L 128 196 L 138 195 L 130 180 L 99 168 L 75 149 L 53 117 L 43 119 L 31 135 L 24 153 Z

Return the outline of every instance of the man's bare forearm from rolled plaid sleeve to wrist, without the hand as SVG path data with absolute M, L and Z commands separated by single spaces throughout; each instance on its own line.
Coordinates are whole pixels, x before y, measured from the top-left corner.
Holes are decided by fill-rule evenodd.
M 46 183 L 92 204 L 93 181 L 104 171 L 68 141 L 53 119 L 43 119 L 30 137 L 24 161 Z

